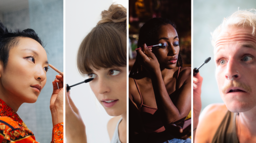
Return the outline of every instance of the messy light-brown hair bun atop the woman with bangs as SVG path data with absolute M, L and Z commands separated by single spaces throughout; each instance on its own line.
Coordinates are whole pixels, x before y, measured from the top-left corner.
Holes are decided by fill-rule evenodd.
M 116 23 L 126 28 L 126 8 L 122 5 L 112 4 L 109 10 L 101 12 L 101 20 L 97 24 Z

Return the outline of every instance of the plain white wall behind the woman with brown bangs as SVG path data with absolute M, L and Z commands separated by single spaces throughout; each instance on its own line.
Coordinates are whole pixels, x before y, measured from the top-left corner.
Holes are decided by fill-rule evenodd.
M 66 83 L 83 81 L 76 66 L 76 54 L 82 39 L 96 26 L 100 13 L 113 3 L 126 6 L 126 1 L 66 1 Z M 71 89 L 71 98 L 80 111 L 86 125 L 88 142 L 110 142 L 106 125 L 111 117 L 96 101 L 89 84 L 83 83 Z

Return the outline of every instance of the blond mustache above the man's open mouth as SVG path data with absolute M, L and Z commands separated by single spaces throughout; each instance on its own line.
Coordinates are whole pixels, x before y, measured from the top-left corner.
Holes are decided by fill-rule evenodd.
M 248 85 L 246 85 L 243 82 L 236 81 L 236 80 L 232 80 L 232 81 L 228 82 L 226 85 L 224 85 L 224 88 L 222 89 L 222 92 L 224 94 L 226 94 L 226 91 L 229 88 L 232 88 L 232 87 L 242 88 L 245 92 L 251 92 L 251 88 Z

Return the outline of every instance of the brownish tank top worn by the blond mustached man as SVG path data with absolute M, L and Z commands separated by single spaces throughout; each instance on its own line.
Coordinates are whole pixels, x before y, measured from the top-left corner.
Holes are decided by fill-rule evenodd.
M 212 143 L 239 143 L 237 137 L 237 124 L 236 124 L 237 113 L 227 111 L 224 119 L 222 120 L 219 128 L 217 129 Z

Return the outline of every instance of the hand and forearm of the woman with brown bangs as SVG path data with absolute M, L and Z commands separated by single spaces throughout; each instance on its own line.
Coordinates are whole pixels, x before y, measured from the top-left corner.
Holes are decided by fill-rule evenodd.
M 86 126 L 81 115 L 70 97 L 70 91 L 66 93 L 66 138 L 67 143 L 87 142 Z

